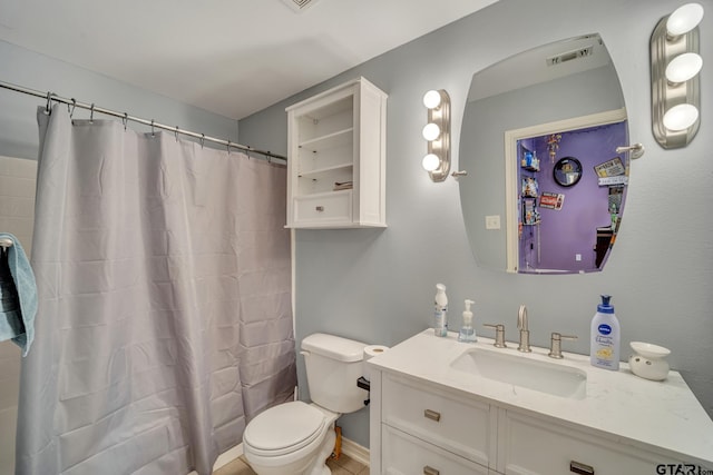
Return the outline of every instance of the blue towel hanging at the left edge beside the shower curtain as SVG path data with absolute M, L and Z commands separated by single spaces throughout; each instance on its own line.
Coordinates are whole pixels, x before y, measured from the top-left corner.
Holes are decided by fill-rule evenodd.
M 0 232 L 1 238 L 8 238 L 13 244 L 4 251 L 7 268 L 3 257 L 3 269 L 0 270 L 0 342 L 12 339 L 22 348 L 22 356 L 27 356 L 35 339 L 37 284 L 20 241 L 7 232 Z

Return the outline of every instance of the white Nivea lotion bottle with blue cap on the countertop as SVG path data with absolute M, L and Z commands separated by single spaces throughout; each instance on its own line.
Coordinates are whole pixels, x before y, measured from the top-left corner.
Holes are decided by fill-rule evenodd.
M 603 295 L 602 304 L 592 319 L 592 346 L 589 362 L 592 366 L 604 369 L 619 369 L 619 320 L 609 304 L 612 296 Z

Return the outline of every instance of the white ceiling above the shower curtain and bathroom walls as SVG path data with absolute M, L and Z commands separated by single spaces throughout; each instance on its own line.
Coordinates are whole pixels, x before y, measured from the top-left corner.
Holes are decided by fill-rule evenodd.
M 0 0 L 0 40 L 242 119 L 496 1 Z

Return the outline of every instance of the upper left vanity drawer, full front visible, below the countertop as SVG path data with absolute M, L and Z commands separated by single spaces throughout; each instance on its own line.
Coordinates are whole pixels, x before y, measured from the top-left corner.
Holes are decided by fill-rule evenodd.
M 384 375 L 382 420 L 422 441 L 488 466 L 495 461 L 490 406 L 418 382 Z

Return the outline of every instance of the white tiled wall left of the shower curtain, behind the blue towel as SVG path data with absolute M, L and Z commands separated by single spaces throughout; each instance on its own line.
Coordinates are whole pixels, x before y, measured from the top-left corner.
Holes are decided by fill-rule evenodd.
M 28 257 L 35 227 L 37 161 L 0 156 L 0 232 L 13 235 Z M 20 389 L 20 347 L 0 342 L 0 475 L 14 473 L 14 426 Z

